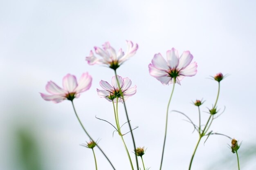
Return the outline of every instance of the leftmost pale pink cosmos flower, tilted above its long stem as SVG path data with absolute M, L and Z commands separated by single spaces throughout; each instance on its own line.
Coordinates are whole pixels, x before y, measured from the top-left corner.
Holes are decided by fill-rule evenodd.
M 52 81 L 47 82 L 45 89 L 50 95 L 40 93 L 41 97 L 54 103 L 62 102 L 65 99 L 73 100 L 78 98 L 80 93 L 87 91 L 92 85 L 92 77 L 88 73 L 83 73 L 79 81 L 76 76 L 67 74 L 62 79 L 63 88 Z

